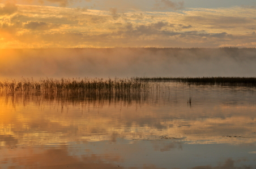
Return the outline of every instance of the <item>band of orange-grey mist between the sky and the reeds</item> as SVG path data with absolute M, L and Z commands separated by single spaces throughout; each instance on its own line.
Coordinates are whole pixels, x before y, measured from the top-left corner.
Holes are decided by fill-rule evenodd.
M 60 48 L 0 50 L 5 78 L 254 77 L 255 48 Z

